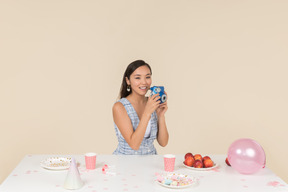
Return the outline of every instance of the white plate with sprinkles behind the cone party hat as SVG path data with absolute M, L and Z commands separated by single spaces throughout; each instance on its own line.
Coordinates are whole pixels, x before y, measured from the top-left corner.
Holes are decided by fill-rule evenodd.
M 49 157 L 40 162 L 41 167 L 51 170 L 63 170 L 70 167 L 71 158 L 68 157 Z

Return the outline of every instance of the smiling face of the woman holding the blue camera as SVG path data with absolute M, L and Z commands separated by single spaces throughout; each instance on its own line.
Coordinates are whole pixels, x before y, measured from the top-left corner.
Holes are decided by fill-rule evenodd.
M 130 76 L 126 77 L 126 82 L 131 86 L 131 90 L 139 95 L 145 95 L 150 89 L 152 79 L 150 69 L 143 65 L 138 67 Z

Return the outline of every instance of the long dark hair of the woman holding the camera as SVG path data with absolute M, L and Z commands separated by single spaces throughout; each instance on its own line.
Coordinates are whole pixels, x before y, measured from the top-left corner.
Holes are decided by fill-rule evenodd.
M 130 80 L 130 76 L 131 74 L 138 68 L 138 67 L 141 67 L 141 66 L 147 66 L 151 72 L 151 75 L 152 75 L 152 70 L 151 70 L 151 67 L 149 66 L 148 63 L 145 63 L 145 61 L 143 60 L 136 60 L 136 61 L 133 61 L 132 63 L 130 63 L 127 68 L 126 68 L 126 71 L 123 75 L 123 79 L 122 79 L 122 85 L 121 85 L 121 88 L 120 88 L 120 99 L 123 98 L 123 97 L 127 97 L 128 95 L 131 94 L 132 90 L 130 91 L 127 91 L 127 82 L 126 82 L 126 77 Z M 131 89 L 131 88 L 130 88 Z

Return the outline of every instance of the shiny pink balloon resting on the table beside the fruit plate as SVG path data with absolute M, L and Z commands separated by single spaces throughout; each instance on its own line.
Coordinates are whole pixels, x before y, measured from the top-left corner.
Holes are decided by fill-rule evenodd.
M 228 161 L 239 173 L 253 174 L 265 167 L 266 156 L 261 145 L 253 139 L 239 139 L 229 147 Z

